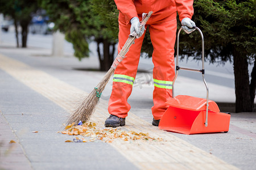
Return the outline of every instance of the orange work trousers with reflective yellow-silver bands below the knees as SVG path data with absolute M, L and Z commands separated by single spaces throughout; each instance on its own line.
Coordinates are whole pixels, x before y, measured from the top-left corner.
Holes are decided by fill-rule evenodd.
M 139 19 L 141 20 L 141 17 Z M 162 117 L 167 109 L 165 103 L 172 97 L 172 80 L 175 76 L 174 45 L 176 27 L 176 18 L 161 23 L 150 19 L 146 25 L 146 28 L 150 31 L 152 45 L 154 46 L 152 61 L 154 63 L 153 78 L 155 87 L 153 92 L 154 106 L 151 110 L 155 120 L 159 120 Z M 129 34 L 130 24 L 127 25 L 125 20 L 119 19 L 118 53 L 128 39 Z M 131 107 L 127 103 L 127 99 L 131 94 L 137 74 L 144 35 L 145 33 L 135 40 L 135 44 L 131 45 L 126 58 L 115 69 L 113 89 L 108 107 L 109 113 L 115 116 L 125 118 L 130 111 Z

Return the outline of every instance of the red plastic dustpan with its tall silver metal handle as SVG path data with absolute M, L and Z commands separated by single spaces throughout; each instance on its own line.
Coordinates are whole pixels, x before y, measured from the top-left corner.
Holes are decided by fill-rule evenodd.
M 179 70 L 191 70 L 199 71 L 203 75 L 203 81 L 207 88 L 207 99 L 201 99 L 199 97 L 179 95 L 173 97 L 167 101 L 169 106 L 164 112 L 160 122 L 159 129 L 174 131 L 183 134 L 199 134 L 199 133 L 216 133 L 216 132 L 228 132 L 230 113 L 221 113 L 218 105 L 208 100 L 208 86 L 204 79 L 204 37 L 201 30 L 195 27 L 201 34 L 202 37 L 202 70 L 188 69 L 179 67 L 179 51 L 177 50 L 177 61 L 176 61 L 176 75 L 172 84 L 172 96 L 174 96 L 174 83 L 177 78 Z M 181 28 L 177 34 L 177 49 L 179 49 L 179 34 Z

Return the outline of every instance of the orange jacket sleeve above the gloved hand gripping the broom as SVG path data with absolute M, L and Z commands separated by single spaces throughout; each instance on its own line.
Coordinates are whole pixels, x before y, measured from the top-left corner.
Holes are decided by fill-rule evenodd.
M 130 20 L 135 16 L 138 17 L 134 0 L 114 0 L 117 9 L 125 15 L 126 24 L 130 23 Z

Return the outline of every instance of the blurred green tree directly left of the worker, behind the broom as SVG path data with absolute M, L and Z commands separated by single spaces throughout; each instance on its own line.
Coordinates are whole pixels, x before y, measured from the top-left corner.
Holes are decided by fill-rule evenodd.
M 65 33 L 65 39 L 73 44 L 75 56 L 80 60 L 89 56 L 89 42 L 97 42 L 100 70 L 109 70 L 113 63 L 115 41 L 100 16 L 92 11 L 89 0 L 39 0 L 55 23 L 55 30 Z M 104 9 L 102 9 L 104 10 Z

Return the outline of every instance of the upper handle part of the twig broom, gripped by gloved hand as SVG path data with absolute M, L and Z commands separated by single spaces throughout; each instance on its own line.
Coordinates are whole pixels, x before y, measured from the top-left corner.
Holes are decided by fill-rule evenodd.
M 144 27 L 144 25 L 146 25 L 148 19 L 152 15 L 152 13 L 153 12 L 150 11 L 150 12 L 148 12 L 148 14 L 142 15 L 142 21 L 141 21 L 141 25 L 139 26 L 139 29 L 142 29 L 142 27 Z M 129 38 L 125 42 L 125 45 L 123 45 L 123 48 L 118 53 L 117 57 L 115 58 L 115 60 L 113 62 L 113 65 L 111 66 L 113 69 L 117 68 L 119 63 L 123 60 L 123 58 L 125 58 L 125 54 L 129 51 L 130 46 L 134 44 L 134 40 L 137 39 L 136 36 L 134 36 L 135 34 L 131 33 L 131 35 L 129 35 Z

